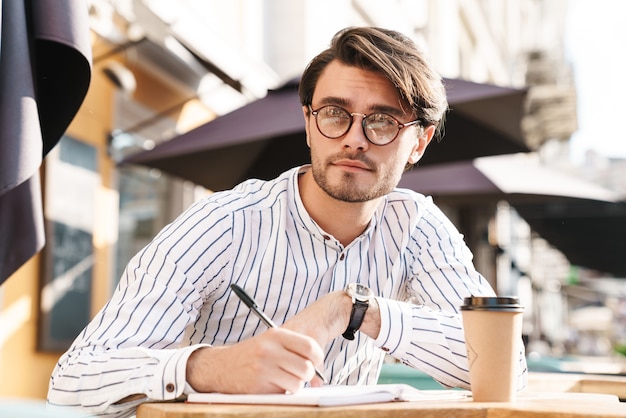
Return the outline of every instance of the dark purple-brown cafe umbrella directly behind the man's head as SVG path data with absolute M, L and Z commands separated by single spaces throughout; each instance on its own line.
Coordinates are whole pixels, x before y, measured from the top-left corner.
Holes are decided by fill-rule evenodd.
M 450 111 L 445 135 L 420 165 L 528 151 L 520 128 L 525 90 L 444 79 Z M 158 168 L 210 190 L 269 179 L 310 161 L 298 79 L 231 113 L 120 164 Z

